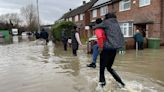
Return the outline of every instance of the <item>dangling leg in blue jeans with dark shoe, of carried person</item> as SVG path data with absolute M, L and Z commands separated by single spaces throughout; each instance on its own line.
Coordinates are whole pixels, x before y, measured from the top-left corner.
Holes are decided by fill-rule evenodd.
M 96 68 L 96 60 L 97 60 L 98 55 L 99 55 L 98 44 L 95 44 L 93 45 L 92 63 L 88 64 L 87 67 Z

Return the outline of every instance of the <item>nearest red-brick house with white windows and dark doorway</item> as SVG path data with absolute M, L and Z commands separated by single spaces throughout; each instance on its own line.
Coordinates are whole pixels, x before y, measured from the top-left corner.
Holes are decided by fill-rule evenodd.
M 164 1 L 163 0 L 98 0 L 90 9 L 90 21 L 104 18 L 114 12 L 126 38 L 126 47 L 134 48 L 133 35 L 139 28 L 145 37 L 145 47 L 149 38 L 160 39 L 164 45 Z

